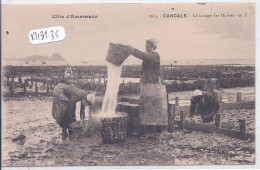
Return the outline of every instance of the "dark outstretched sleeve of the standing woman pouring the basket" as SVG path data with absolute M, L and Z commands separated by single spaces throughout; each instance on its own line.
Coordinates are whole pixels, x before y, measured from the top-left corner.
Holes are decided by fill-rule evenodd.
M 153 52 L 151 54 L 146 54 L 138 49 L 134 49 L 133 56 L 135 56 L 136 58 L 139 58 L 141 60 L 146 60 L 146 61 L 151 61 L 151 62 L 155 62 L 155 63 L 160 63 L 160 56 L 158 53 Z

